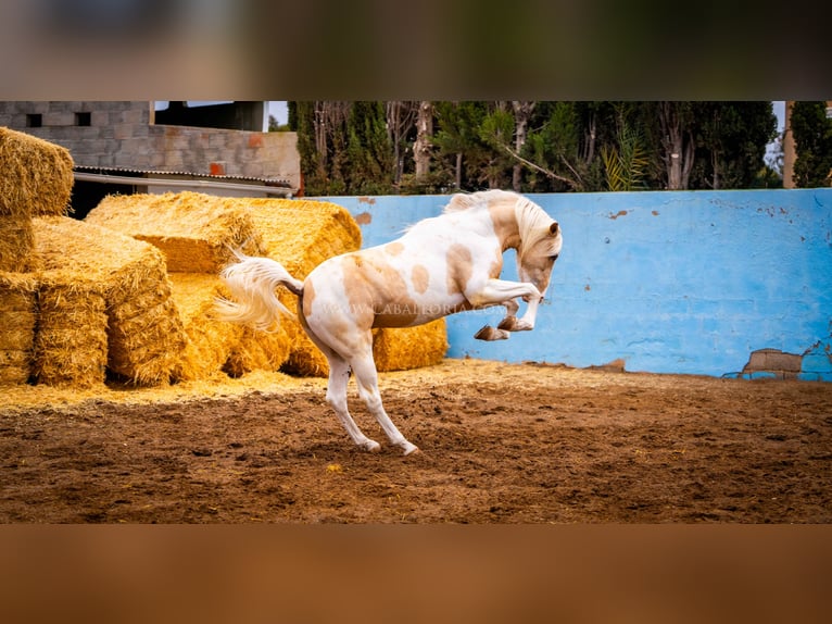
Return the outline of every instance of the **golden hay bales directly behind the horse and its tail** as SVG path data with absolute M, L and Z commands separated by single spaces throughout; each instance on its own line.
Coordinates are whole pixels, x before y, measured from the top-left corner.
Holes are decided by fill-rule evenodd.
M 218 273 L 235 258 L 230 249 L 280 262 L 304 279 L 327 258 L 361 248 L 350 213 L 324 201 L 220 198 L 197 192 L 111 196 L 85 220 L 156 246 L 167 259 L 173 299 L 188 336 L 175 379 L 202 379 L 220 371 L 241 376 L 254 370 L 326 376 L 324 354 L 297 320 L 283 317 L 274 333 L 216 320 L 214 300 L 228 297 Z M 297 298 L 281 289 L 289 309 Z M 405 329 L 376 329 L 380 371 L 434 364 L 447 349 L 444 321 Z

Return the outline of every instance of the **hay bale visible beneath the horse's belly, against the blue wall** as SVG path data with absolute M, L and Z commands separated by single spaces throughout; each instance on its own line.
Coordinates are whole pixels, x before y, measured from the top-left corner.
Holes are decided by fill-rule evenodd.
M 379 371 L 408 371 L 433 366 L 447 352 L 445 320 L 417 327 L 383 327 L 373 330 L 373 357 Z

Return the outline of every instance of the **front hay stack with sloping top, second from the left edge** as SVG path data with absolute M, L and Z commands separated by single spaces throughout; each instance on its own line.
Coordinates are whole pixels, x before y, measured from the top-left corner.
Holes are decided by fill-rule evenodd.
M 89 386 L 109 369 L 136 385 L 167 383 L 185 332 L 162 253 L 68 217 L 36 219 L 34 232 L 38 380 Z M 65 370 L 52 373 L 61 362 Z

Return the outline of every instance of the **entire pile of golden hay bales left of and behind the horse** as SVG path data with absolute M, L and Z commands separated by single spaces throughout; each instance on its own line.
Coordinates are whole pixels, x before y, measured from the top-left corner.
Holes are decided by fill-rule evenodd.
M 70 152 L 0 127 L 0 385 L 89 387 L 109 372 L 136 384 L 283 369 L 326 375 L 297 321 L 275 333 L 212 317 L 234 255 L 266 255 L 303 279 L 361 247 L 341 207 L 194 192 L 111 196 L 85 222 L 66 217 Z M 289 309 L 294 296 L 280 294 Z M 438 362 L 444 322 L 377 329 L 379 370 Z

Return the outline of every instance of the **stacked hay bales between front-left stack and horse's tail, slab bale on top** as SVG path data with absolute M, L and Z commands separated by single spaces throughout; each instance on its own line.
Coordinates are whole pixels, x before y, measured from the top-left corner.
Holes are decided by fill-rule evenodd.
M 213 317 L 214 300 L 227 297 L 218 274 L 231 249 L 263 255 L 262 237 L 249 211 L 227 198 L 197 192 L 110 196 L 87 223 L 151 242 L 166 259 L 173 300 L 187 344 L 175 380 L 204 379 L 225 372 L 277 370 L 289 352 L 286 330 L 263 334 Z

